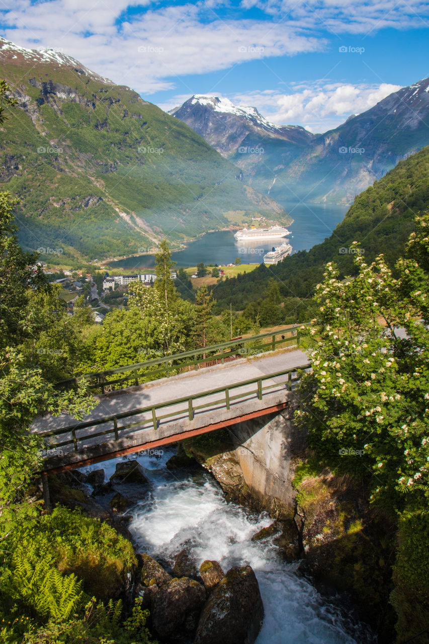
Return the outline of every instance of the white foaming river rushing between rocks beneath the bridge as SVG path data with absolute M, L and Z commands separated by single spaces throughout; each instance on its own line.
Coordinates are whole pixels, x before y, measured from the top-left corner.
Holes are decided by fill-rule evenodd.
M 227 503 L 209 473 L 169 471 L 165 464 L 173 453 L 167 449 L 158 456 L 137 457 L 151 482 L 151 490 L 128 511 L 133 516 L 129 530 L 137 551 L 167 565 L 173 565 L 174 556 L 184 548 L 198 567 L 205 559 L 217 560 L 224 571 L 250 564 L 265 610 L 256 644 L 376 642 L 366 625 L 322 598 L 300 575 L 297 564 L 283 562 L 271 538 L 251 541 L 256 532 L 271 524 L 269 516 Z M 88 469 L 104 467 L 108 480 L 118 460 L 126 459 Z

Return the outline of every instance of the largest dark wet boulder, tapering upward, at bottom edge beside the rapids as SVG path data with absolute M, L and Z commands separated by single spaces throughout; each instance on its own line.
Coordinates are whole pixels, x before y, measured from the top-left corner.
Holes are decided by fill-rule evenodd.
M 253 644 L 263 620 L 258 581 L 249 566 L 231 568 L 205 604 L 195 644 Z

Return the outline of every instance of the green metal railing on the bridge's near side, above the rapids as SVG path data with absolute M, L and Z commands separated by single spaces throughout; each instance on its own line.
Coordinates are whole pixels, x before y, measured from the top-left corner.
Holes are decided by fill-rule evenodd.
M 66 438 L 66 440 L 63 440 L 62 442 L 55 442 L 55 448 L 62 448 L 66 445 L 73 444 L 73 449 L 74 451 L 77 452 L 79 451 L 79 442 L 81 442 L 82 440 L 87 440 L 87 439 L 92 440 L 101 436 L 108 436 L 108 435 L 111 435 L 112 439 L 114 437 L 115 440 L 119 440 L 121 437 L 123 437 L 123 432 L 126 430 L 136 429 L 140 431 L 148 428 L 152 428 L 153 430 L 158 430 L 158 427 L 161 421 L 164 421 L 166 419 L 174 419 L 175 417 L 176 419 L 187 417 L 189 421 L 193 421 L 195 417 L 195 413 L 200 410 L 204 410 L 206 408 L 213 408 L 220 404 L 222 404 L 222 406 L 224 406 L 227 410 L 229 410 L 231 408 L 231 403 L 236 403 L 236 401 L 240 401 L 240 399 L 243 400 L 255 394 L 257 395 L 259 400 L 262 400 L 264 392 L 267 393 L 268 390 L 270 389 L 272 390 L 273 388 L 278 388 L 278 386 L 281 386 L 281 385 L 284 385 L 285 389 L 291 392 L 294 383 L 296 383 L 296 381 L 300 379 L 300 375 L 298 372 L 300 370 L 307 370 L 309 368 L 310 368 L 310 364 L 296 366 L 291 369 L 274 372 L 273 374 L 266 374 L 249 380 L 243 380 L 240 383 L 228 384 L 224 387 L 218 387 L 216 389 L 211 389 L 209 391 L 200 392 L 200 393 L 193 393 L 190 396 L 176 398 L 174 400 L 169 400 L 164 403 L 152 404 L 152 405 L 141 407 L 128 412 L 121 412 L 115 415 L 106 416 L 104 418 L 100 418 L 95 421 L 79 422 L 78 424 L 68 426 L 68 427 L 62 427 L 57 430 L 44 431 L 39 435 L 43 437 L 43 439 L 52 440 L 52 439 L 58 439 L 59 437 L 62 437 L 64 434 L 71 434 L 71 437 Z M 267 381 L 273 378 L 276 378 L 276 379 L 280 378 L 280 382 L 268 383 L 268 384 L 265 384 L 265 386 L 263 385 L 264 381 Z M 256 385 L 256 389 L 251 388 L 249 390 L 249 388 L 247 387 L 252 385 Z M 244 392 L 234 393 L 233 395 L 231 395 L 231 392 L 233 392 L 234 390 L 237 390 L 240 387 L 246 387 L 246 390 Z M 220 397 L 216 398 L 216 400 L 214 401 L 211 400 L 209 402 L 205 402 L 202 404 L 195 404 L 196 401 L 198 401 L 198 399 L 202 399 L 202 398 L 206 398 L 207 396 L 213 396 L 218 394 L 221 394 Z M 168 413 L 163 413 L 162 415 L 159 414 L 160 410 L 165 411 L 166 408 L 169 408 L 172 406 L 180 406 L 180 408 L 173 411 L 169 411 Z M 148 418 L 140 419 L 137 422 L 129 422 L 128 424 L 119 425 L 119 422 L 124 421 L 124 419 L 132 419 L 135 416 L 143 415 L 143 414 L 146 414 Z M 227 421 L 225 421 L 225 423 L 227 423 Z M 105 429 L 102 431 L 95 431 L 95 432 L 89 432 L 89 433 L 87 432 L 87 433 L 84 433 L 84 435 L 81 435 L 81 431 L 88 430 L 89 428 L 95 429 L 98 426 L 103 424 L 109 424 L 110 426 L 108 427 L 108 429 Z M 77 434 L 77 432 L 79 432 L 79 435 Z

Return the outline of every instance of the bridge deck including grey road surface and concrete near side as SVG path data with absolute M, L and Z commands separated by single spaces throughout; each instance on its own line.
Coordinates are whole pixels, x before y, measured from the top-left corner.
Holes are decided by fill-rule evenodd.
M 164 378 L 140 386 L 131 387 L 119 392 L 96 396 L 98 401 L 95 409 L 83 421 L 76 421 L 68 415 L 38 417 L 33 423 L 33 431 L 38 433 L 57 432 L 61 434 L 46 437 L 61 446 L 58 453 L 45 459 L 46 469 L 62 469 L 77 467 L 84 462 L 106 460 L 118 453 L 130 453 L 138 449 L 154 447 L 167 442 L 175 442 L 186 435 L 204 433 L 221 426 L 239 422 L 248 417 L 262 415 L 269 410 L 281 409 L 287 404 L 288 392 L 285 387 L 285 377 L 267 379 L 267 375 L 292 369 L 307 363 L 307 355 L 300 350 L 281 351 L 262 354 L 260 357 L 239 359 L 234 363 L 216 365 L 187 372 L 169 378 Z M 263 392 L 258 397 L 256 384 L 243 384 L 234 387 L 236 383 L 251 379 L 264 378 Z M 225 406 L 225 395 L 211 392 L 214 389 L 231 389 L 229 409 Z M 184 401 L 169 404 L 170 401 L 187 399 L 196 396 L 193 403 L 193 418 L 189 419 L 188 404 Z M 234 399 L 236 397 L 236 399 Z M 153 408 L 157 407 L 157 429 L 153 424 Z M 119 430 L 117 437 L 113 436 L 113 416 L 128 415 L 133 410 L 147 408 L 144 412 L 128 416 L 126 422 L 117 421 Z M 160 418 L 161 416 L 161 418 Z M 167 416 L 167 417 L 166 417 Z M 105 419 L 102 424 L 91 425 L 91 422 Z M 124 419 L 125 420 L 125 419 Z M 130 421 L 133 425 L 130 427 Z M 84 422 L 86 427 L 79 428 Z M 124 429 L 121 429 L 121 428 Z M 66 431 L 70 428 L 70 431 Z M 74 436 L 72 433 L 74 430 Z M 106 435 L 101 435 L 103 431 Z M 75 444 L 73 445 L 73 438 Z

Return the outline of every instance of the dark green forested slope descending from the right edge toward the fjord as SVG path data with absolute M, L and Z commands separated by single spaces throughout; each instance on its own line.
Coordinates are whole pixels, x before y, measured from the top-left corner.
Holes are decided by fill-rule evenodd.
M 429 209 L 429 147 L 400 161 L 394 169 L 359 194 L 344 220 L 325 242 L 310 251 L 300 251 L 272 267 L 261 265 L 253 272 L 228 279 L 216 286 L 218 306 L 233 303 L 242 310 L 263 296 L 269 278 L 278 280 L 284 297 L 308 298 L 321 281 L 323 266 L 335 261 L 341 274 L 352 274 L 352 242 L 359 242 L 365 261 L 384 253 L 393 266 L 405 252 L 414 230 L 414 217 Z

